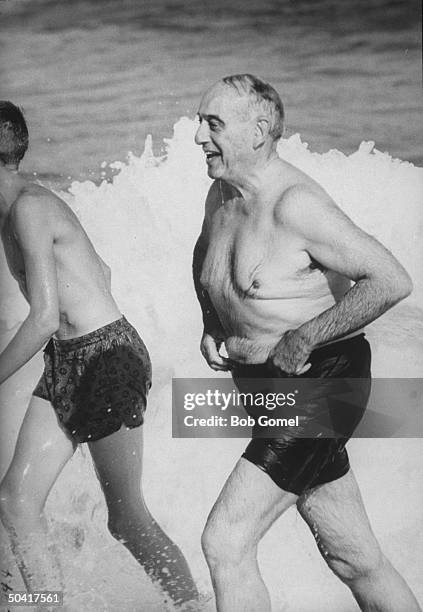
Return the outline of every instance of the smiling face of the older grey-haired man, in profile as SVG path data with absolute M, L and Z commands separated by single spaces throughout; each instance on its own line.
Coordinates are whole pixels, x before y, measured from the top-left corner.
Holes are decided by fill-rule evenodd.
M 206 154 L 210 178 L 230 180 L 243 174 L 254 153 L 255 121 L 246 96 L 214 85 L 203 97 L 195 142 Z

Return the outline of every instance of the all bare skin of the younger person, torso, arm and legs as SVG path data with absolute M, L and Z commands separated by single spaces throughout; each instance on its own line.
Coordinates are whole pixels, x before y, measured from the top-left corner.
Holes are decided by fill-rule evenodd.
M 0 225 L 10 272 L 30 306 L 0 355 L 1 384 L 53 334 L 60 339 L 82 336 L 121 314 L 110 291 L 110 270 L 72 210 L 47 189 L 1 164 Z M 119 431 L 88 446 L 113 537 L 175 605 L 196 600 L 185 558 L 143 498 L 142 428 L 129 430 L 122 424 Z M 49 402 L 32 396 L 12 462 L 0 483 L 0 519 L 27 590 L 64 589 L 60 564 L 47 545 L 42 513 L 75 448 L 75 441 L 58 426 Z

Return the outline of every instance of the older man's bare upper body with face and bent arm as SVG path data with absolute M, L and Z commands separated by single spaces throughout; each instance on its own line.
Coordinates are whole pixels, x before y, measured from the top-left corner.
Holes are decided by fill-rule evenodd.
M 247 96 L 218 83 L 198 117 L 196 143 L 215 183 L 194 274 L 220 321 L 209 335 L 225 341 L 230 359 L 271 357 L 299 373 L 314 348 L 360 333 L 409 294 L 410 279 L 391 253 L 279 158 L 269 117 Z M 214 351 L 205 340 L 207 359 Z

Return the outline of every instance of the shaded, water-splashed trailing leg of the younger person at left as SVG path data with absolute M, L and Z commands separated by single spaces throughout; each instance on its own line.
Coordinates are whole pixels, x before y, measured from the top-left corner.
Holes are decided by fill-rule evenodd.
M 174 604 L 196 600 L 198 592 L 179 548 L 151 516 L 141 490 L 142 428 L 90 442 L 103 489 L 111 534 L 122 542 Z

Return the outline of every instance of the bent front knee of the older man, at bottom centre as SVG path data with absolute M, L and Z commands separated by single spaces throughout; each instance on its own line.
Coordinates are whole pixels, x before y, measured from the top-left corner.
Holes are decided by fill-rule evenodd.
M 242 533 L 242 529 L 230 523 L 219 524 L 209 520 L 201 537 L 204 556 L 211 569 L 228 565 L 239 565 L 255 556 L 256 545 Z

